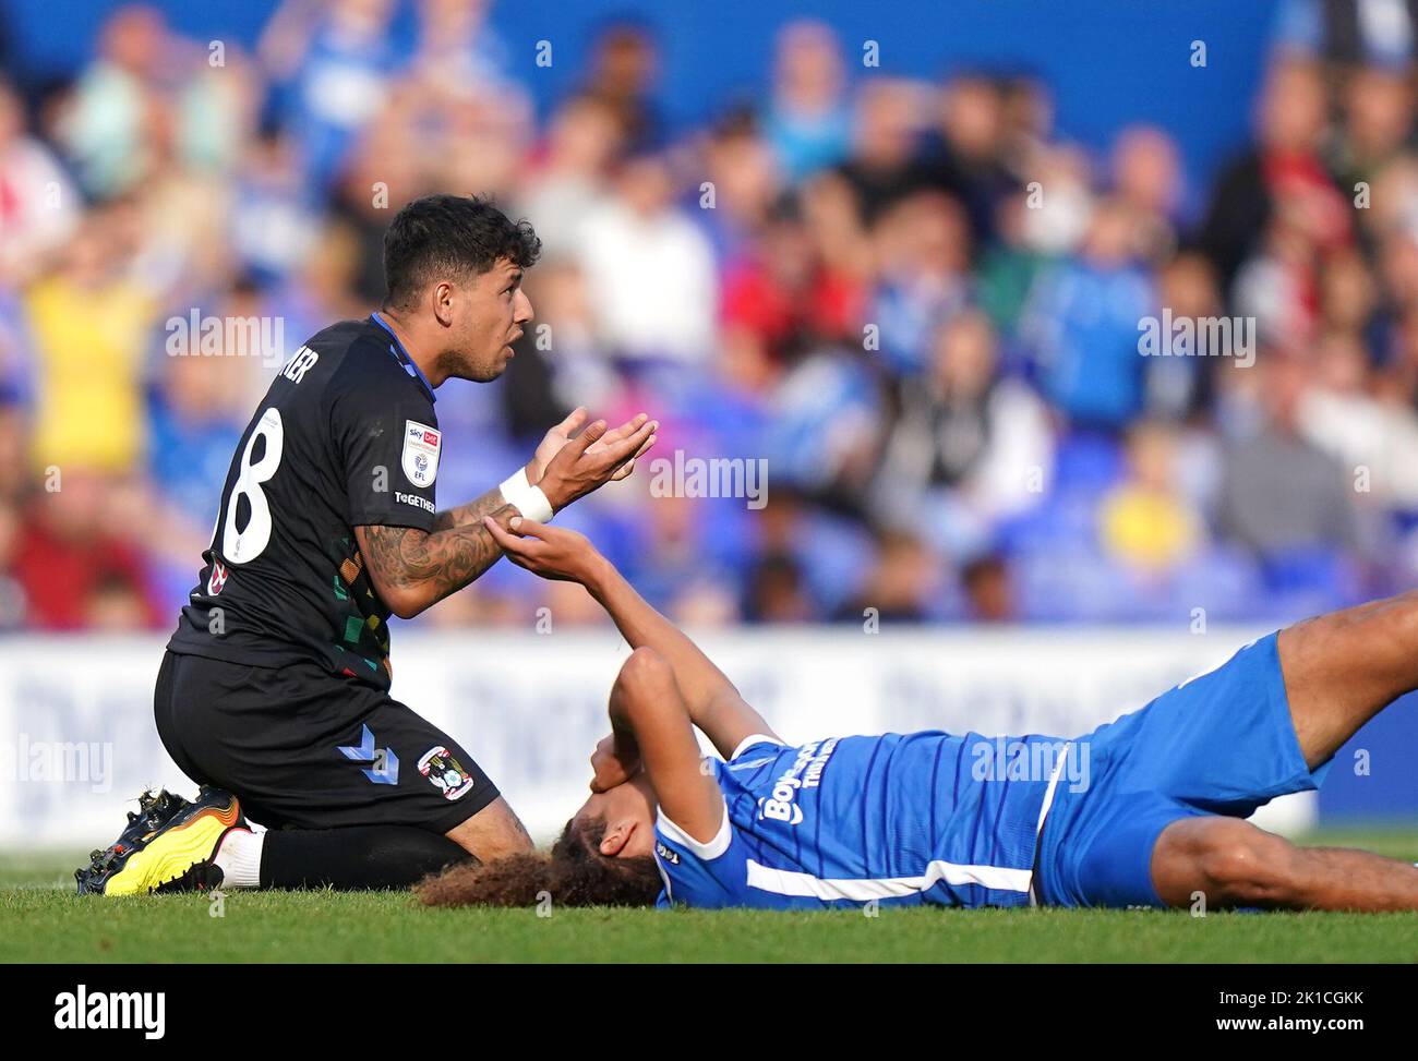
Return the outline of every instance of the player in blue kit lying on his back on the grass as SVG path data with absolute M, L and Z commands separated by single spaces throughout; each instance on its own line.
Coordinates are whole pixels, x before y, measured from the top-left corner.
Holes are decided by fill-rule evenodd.
M 977 733 L 787 746 L 584 536 L 510 525 L 488 532 L 519 566 L 586 586 L 634 651 L 593 794 L 550 857 L 452 867 L 420 885 L 430 905 L 1418 909 L 1411 864 L 1242 820 L 1317 787 L 1340 745 L 1418 687 L 1418 594 L 1262 637 L 1073 740 L 1012 739 L 1046 763 L 1015 770 Z M 696 728 L 725 762 L 702 757 Z

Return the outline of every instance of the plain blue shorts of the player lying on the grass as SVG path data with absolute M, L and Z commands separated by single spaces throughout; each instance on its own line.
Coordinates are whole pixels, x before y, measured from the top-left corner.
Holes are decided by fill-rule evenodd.
M 1034 877 L 1042 905 L 1163 906 L 1151 881 L 1163 828 L 1249 817 L 1320 786 L 1330 765 L 1312 772 L 1300 753 L 1276 637 L 1078 738 L 1088 780 L 1078 791 L 1061 780 L 1045 818 Z

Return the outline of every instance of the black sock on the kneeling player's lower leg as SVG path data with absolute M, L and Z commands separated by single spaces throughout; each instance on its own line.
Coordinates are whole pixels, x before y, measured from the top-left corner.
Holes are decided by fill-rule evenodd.
M 274 828 L 261 850 L 261 887 L 408 888 L 469 860 L 448 837 L 413 826 Z

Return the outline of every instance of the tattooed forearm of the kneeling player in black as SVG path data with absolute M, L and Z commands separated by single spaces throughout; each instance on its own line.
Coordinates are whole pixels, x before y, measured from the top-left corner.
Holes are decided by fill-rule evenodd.
M 492 492 L 498 504 L 486 511 L 506 526 L 516 509 Z M 357 526 L 364 567 L 384 604 L 400 617 L 408 618 L 455 593 L 491 567 L 502 548 L 492 539 L 481 519 L 472 515 L 476 506 L 488 504 L 488 495 L 478 501 L 440 513 L 431 532 L 411 526 Z M 459 515 L 462 513 L 462 515 Z M 442 523 L 448 519 L 448 523 Z

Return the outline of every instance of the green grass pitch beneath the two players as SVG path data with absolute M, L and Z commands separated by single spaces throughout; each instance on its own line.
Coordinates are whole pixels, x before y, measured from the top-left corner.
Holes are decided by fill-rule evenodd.
M 1418 830 L 1305 843 L 1418 858 Z M 1418 962 L 1418 913 L 430 911 L 404 892 L 72 894 L 75 857 L 0 857 L 0 962 Z

